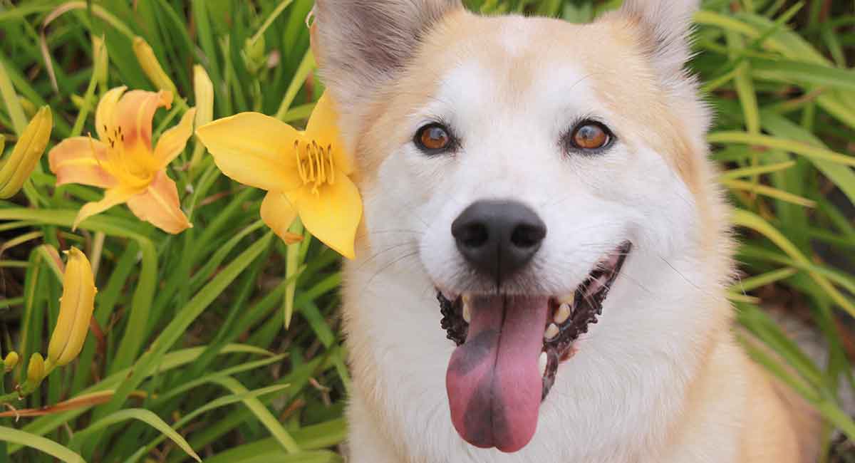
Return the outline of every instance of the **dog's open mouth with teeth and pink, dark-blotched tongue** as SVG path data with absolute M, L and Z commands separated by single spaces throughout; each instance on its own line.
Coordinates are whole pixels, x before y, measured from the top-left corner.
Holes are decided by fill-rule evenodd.
M 464 440 L 503 452 L 531 441 L 558 364 L 597 323 L 631 249 L 632 243 L 622 243 L 604 256 L 569 295 L 438 293 L 442 328 L 457 344 L 445 387 L 451 420 Z

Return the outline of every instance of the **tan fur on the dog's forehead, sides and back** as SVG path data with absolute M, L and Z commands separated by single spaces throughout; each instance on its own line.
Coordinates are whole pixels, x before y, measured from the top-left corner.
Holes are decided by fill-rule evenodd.
M 698 252 L 709 266 L 709 273 L 720 276 L 718 293 L 711 297 L 716 303 L 715 319 L 703 334 L 705 342 L 700 343 L 700 370 L 689 382 L 686 403 L 679 419 L 670 425 L 667 442 L 656 442 L 662 447 L 652 454 L 661 455 L 661 461 L 675 463 L 701 461 L 699 455 L 716 453 L 738 454 L 736 461 L 742 463 L 811 462 L 817 451 L 818 439 L 811 438 L 817 436 L 817 419 L 802 401 L 748 360 L 734 341 L 732 308 L 723 294 L 732 271 L 733 244 L 728 231 L 728 208 L 715 182 L 716 168 L 705 159 L 705 108 L 697 102 L 681 101 L 683 94 L 663 86 L 663 79 L 646 55 L 645 43 L 650 37 L 640 21 L 626 15 L 610 15 L 594 25 L 573 26 L 529 19 L 540 24 L 535 36 L 528 40 L 545 44 L 536 53 L 509 56 L 498 47 L 478 46 L 500 43 L 513 28 L 513 21 L 520 20 L 482 18 L 462 9 L 452 11 L 422 39 L 400 74 L 360 100 L 358 107 L 344 111 L 342 128 L 357 153 L 360 187 L 370 189 L 380 181 L 378 169 L 386 155 L 395 152 L 410 136 L 394 127 L 430 101 L 441 76 L 457 63 L 475 61 L 491 69 L 498 82 L 506 85 L 503 95 L 511 101 L 531 85 L 530 63 L 535 60 L 572 60 L 584 67 L 599 99 L 618 114 L 622 140 L 659 148 L 686 183 L 699 208 Z M 318 53 L 324 62 L 323 50 Z M 339 91 L 342 97 L 352 92 L 331 90 Z M 371 254 L 368 237 L 363 236 L 358 244 L 359 252 Z M 349 273 L 357 271 L 348 268 Z M 350 331 L 371 323 L 359 314 L 359 296 L 359 288 L 345 290 L 345 317 Z M 354 381 L 363 386 L 358 388 L 362 400 L 351 409 L 351 416 L 367 415 L 366 421 L 378 426 L 355 432 L 376 442 L 379 458 L 386 452 L 389 460 L 413 461 L 394 438 L 396 430 L 388 427 L 389 421 L 382 412 L 384 396 L 376 395 L 374 384 L 382 381 L 378 378 L 378 361 L 358 343 L 351 345 Z M 733 435 L 716 434 L 722 420 L 736 423 L 739 431 Z

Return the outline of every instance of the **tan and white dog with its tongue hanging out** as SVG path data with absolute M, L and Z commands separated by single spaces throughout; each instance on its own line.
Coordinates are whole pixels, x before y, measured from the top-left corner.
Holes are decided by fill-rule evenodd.
M 351 461 L 816 460 L 816 417 L 734 340 L 728 206 L 685 70 L 698 8 L 575 25 L 316 1 L 365 210 Z

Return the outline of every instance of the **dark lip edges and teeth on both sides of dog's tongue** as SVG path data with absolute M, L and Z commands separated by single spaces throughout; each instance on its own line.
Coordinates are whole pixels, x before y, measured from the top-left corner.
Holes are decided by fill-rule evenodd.
M 632 250 L 632 243 L 625 242 L 594 266 L 588 277 L 567 296 L 551 296 L 549 318 L 544 328 L 542 399 L 545 400 L 555 383 L 558 364 L 572 357 L 575 341 L 597 323 L 602 314 L 603 302 L 621 272 L 624 261 Z M 438 291 L 437 299 L 443 315 L 441 326 L 447 337 L 457 346 L 465 343 L 469 322 L 463 295 Z

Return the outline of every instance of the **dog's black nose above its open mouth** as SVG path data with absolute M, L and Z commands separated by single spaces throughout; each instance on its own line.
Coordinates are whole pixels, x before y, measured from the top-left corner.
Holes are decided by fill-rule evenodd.
M 472 267 L 500 282 L 532 260 L 546 226 L 520 202 L 481 201 L 454 220 L 451 235 Z

